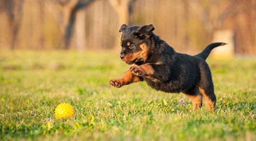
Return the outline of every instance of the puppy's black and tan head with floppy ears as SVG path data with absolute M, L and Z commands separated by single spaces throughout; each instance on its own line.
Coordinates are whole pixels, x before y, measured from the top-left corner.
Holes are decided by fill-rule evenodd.
M 128 26 L 123 24 L 119 30 L 122 32 L 120 58 L 127 64 L 144 62 L 148 58 L 149 41 L 154 26 Z

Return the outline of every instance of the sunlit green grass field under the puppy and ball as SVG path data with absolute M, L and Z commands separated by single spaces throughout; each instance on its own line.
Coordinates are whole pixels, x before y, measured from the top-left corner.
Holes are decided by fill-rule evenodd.
M 207 62 L 214 112 L 145 82 L 111 87 L 129 68 L 118 53 L 1 51 L 0 140 L 256 140 L 256 59 Z M 74 118 L 55 119 L 62 102 Z

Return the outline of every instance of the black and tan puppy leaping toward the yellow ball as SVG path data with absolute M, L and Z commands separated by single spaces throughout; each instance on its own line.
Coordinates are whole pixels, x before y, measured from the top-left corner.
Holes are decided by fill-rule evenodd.
M 146 81 L 156 90 L 184 93 L 191 99 L 193 109 L 202 107 L 204 97 L 206 109 L 213 110 L 216 96 L 211 70 L 205 60 L 214 47 L 225 43 L 210 44 L 201 53 L 191 56 L 175 52 L 153 30 L 153 25 L 121 26 L 120 58 L 132 67 L 119 79 L 110 80 L 110 84 L 121 87 Z

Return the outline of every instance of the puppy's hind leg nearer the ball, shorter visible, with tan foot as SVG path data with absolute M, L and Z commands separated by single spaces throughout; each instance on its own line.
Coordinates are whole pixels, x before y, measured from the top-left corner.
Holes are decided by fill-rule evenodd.
M 192 108 L 193 110 L 202 107 L 202 95 L 199 93 L 197 87 L 189 89 L 188 91 L 184 92 L 184 94 L 192 101 Z

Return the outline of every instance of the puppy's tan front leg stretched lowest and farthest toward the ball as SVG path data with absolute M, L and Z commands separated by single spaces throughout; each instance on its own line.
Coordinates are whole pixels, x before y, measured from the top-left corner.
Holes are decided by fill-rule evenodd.
M 120 88 L 123 85 L 142 80 L 142 77 L 134 75 L 131 70 L 127 70 L 127 72 L 125 72 L 119 79 L 112 79 L 109 81 L 109 83 L 114 87 Z

